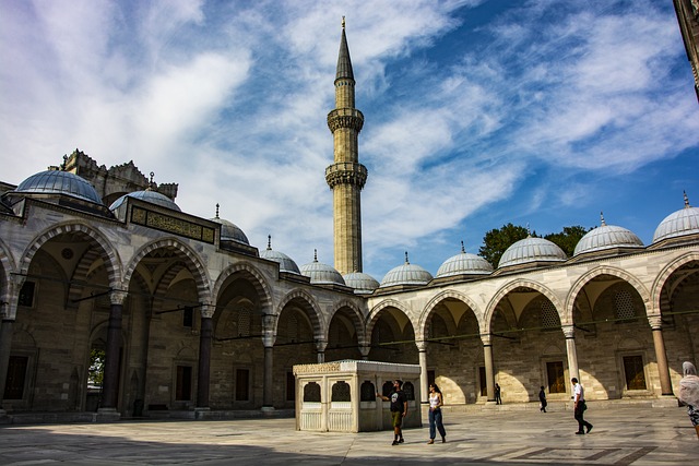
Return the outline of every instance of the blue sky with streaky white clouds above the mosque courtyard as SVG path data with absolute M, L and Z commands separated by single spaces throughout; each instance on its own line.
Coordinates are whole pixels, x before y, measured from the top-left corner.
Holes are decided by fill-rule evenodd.
M 671 0 L 0 3 L 0 180 L 75 147 L 133 160 L 260 249 L 333 263 L 325 117 L 341 35 L 365 115 L 364 271 L 436 274 L 507 223 L 649 244 L 699 204 L 699 104 Z

